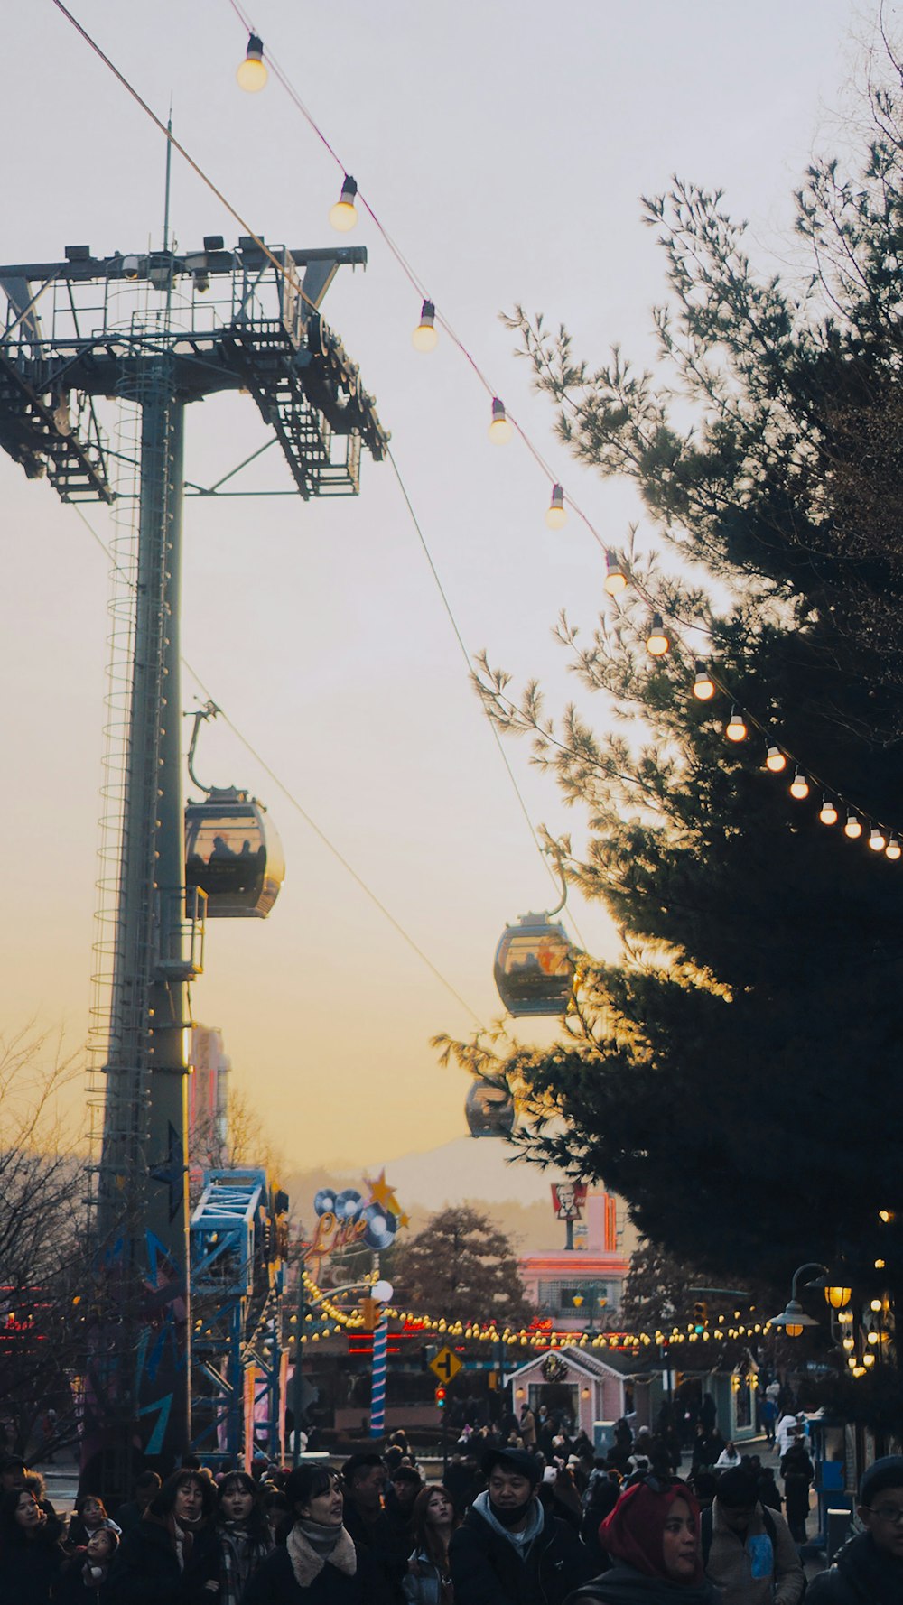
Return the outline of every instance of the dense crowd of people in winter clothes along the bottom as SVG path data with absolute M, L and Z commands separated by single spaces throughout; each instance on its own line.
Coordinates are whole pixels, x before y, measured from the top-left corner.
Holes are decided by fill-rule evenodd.
M 6 1456 L 0 1605 L 799 1605 L 805 1419 L 781 1422 L 784 1517 L 771 1469 L 733 1444 L 684 1478 L 667 1435 L 619 1422 L 598 1457 L 559 1420 L 550 1448 L 567 1453 L 546 1457 L 527 1414 L 516 1443 L 464 1433 L 443 1481 L 395 1433 L 341 1470 L 214 1477 L 190 1459 L 143 1472 L 112 1514 L 82 1494 L 67 1522 Z M 810 1605 L 903 1600 L 903 1456 L 869 1467 L 858 1517 Z

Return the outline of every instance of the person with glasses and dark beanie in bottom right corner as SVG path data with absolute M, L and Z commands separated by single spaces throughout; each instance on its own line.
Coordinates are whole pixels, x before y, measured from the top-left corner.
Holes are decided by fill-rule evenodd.
M 860 1483 L 856 1533 L 810 1584 L 807 1605 L 892 1605 L 903 1600 L 903 1454 L 874 1461 Z

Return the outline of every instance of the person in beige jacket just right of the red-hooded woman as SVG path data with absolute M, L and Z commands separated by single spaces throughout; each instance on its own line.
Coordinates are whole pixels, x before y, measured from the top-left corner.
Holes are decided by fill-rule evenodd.
M 797 1605 L 805 1575 L 791 1528 L 765 1510 L 754 1472 L 721 1472 L 710 1514 L 702 1518 L 705 1576 L 718 1605 Z

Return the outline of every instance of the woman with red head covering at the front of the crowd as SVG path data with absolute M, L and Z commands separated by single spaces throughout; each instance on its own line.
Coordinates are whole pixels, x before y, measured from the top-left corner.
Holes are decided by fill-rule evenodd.
M 603 1522 L 599 1546 L 614 1566 L 566 1605 L 715 1605 L 702 1575 L 699 1505 L 686 1483 L 633 1483 Z

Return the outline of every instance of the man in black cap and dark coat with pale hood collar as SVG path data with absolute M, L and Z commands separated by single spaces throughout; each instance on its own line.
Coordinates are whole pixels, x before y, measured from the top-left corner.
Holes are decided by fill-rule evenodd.
M 543 1510 L 543 1469 L 529 1449 L 490 1449 L 487 1491 L 452 1536 L 448 1562 L 460 1605 L 564 1605 L 593 1575 L 577 1533 Z

